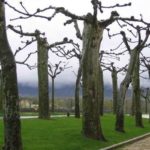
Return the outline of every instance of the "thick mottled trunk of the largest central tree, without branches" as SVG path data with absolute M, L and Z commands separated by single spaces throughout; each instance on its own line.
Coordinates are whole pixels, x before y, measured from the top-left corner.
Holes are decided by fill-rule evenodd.
M 86 137 L 104 140 L 101 129 L 100 109 L 100 64 L 99 48 L 103 28 L 98 23 L 84 22 L 83 31 L 83 134 Z

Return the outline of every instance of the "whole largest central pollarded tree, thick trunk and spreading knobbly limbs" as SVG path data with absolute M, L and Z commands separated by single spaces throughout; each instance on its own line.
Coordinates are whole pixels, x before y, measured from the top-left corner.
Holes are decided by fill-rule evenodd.
M 58 13 L 69 17 L 69 20 L 65 24 L 74 23 L 74 20 L 83 21 L 84 29 L 82 35 L 83 42 L 83 52 L 82 52 L 82 77 L 83 77 L 83 119 L 82 119 L 82 133 L 89 138 L 104 140 L 104 136 L 101 129 L 101 123 L 99 118 L 99 49 L 103 37 L 103 32 L 107 26 L 111 25 L 113 22 L 117 21 L 127 21 L 127 22 L 143 22 L 141 19 L 122 18 L 119 17 L 118 12 L 112 11 L 108 19 L 98 20 L 97 16 L 100 12 L 103 13 L 103 9 L 114 9 L 118 7 L 130 6 L 131 3 L 114 6 L 103 6 L 101 1 L 92 0 L 91 4 L 93 6 L 93 13 L 87 13 L 83 16 L 78 16 L 66 10 L 64 7 L 54 7 L 48 6 L 47 8 L 38 8 L 34 13 L 29 13 L 25 7 L 23 11 L 18 10 L 12 5 L 6 3 L 14 11 L 21 14 L 17 19 L 29 19 L 31 17 L 39 17 L 46 20 L 51 20 Z M 23 5 L 23 4 L 22 4 Z M 41 15 L 40 13 L 53 10 L 54 12 L 49 16 Z M 121 117 L 121 121 L 117 121 L 117 124 L 122 126 L 122 112 L 119 113 L 118 117 Z M 118 120 L 118 119 L 117 119 Z M 120 126 L 120 125 L 119 125 Z M 119 129 L 120 131 L 120 129 Z

